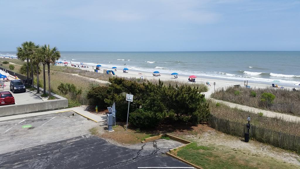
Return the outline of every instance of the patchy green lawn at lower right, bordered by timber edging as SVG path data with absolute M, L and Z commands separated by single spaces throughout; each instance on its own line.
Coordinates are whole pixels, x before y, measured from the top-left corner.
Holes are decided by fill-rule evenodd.
M 299 168 L 297 165 L 276 160 L 268 156 L 246 153 L 238 149 L 198 146 L 196 143 L 191 143 L 190 145 L 176 149 L 171 153 L 205 169 Z

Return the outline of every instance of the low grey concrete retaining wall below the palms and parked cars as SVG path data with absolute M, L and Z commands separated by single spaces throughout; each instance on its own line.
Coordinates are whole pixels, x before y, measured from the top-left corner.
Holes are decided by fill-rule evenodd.
M 53 94 L 54 97 L 58 98 L 55 100 L 47 100 L 40 103 L 31 104 L 15 104 L 0 107 L 0 117 L 7 115 L 16 115 L 23 113 L 43 112 L 48 110 L 60 109 L 68 106 L 68 100 L 57 94 Z

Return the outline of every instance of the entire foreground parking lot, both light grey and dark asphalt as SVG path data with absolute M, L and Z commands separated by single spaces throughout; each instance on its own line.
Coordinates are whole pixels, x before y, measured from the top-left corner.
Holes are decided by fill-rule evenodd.
M 89 134 L 99 123 L 71 114 L 0 121 L 0 168 L 193 168 L 164 154 L 182 143 L 117 146 Z

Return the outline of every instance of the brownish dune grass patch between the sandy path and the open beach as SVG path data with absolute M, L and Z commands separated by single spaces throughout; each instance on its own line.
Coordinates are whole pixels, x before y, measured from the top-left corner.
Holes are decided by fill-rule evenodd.
M 273 103 L 261 101 L 262 93 L 275 95 Z M 300 115 L 300 91 L 291 91 L 280 88 L 240 88 L 228 87 L 222 91 L 217 89 L 212 98 L 237 103 L 245 106 L 267 109 L 275 112 Z

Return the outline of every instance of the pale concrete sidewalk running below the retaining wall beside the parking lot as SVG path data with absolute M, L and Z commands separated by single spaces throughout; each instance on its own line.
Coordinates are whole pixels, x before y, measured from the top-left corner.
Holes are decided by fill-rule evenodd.
M 106 120 L 106 116 L 99 116 L 95 115 L 93 113 L 90 113 L 86 110 L 84 110 L 83 107 L 73 107 L 73 108 L 68 108 L 68 109 L 60 109 L 60 110 L 51 110 L 51 111 L 46 111 L 46 112 L 37 112 L 37 113 L 28 113 L 28 114 L 21 114 L 21 115 L 11 115 L 11 116 L 5 116 L 5 117 L 0 117 L 0 121 L 5 121 L 5 120 L 12 120 L 12 119 L 17 119 L 17 118 L 25 118 L 25 117 L 32 117 L 32 116 L 38 116 L 38 115 L 47 115 L 47 114 L 52 114 L 52 113 L 61 113 L 61 112 L 67 112 L 67 111 L 73 111 L 76 112 L 79 115 L 82 115 L 85 118 L 88 118 L 92 121 L 95 122 L 100 122 Z

